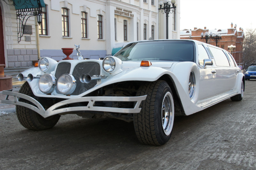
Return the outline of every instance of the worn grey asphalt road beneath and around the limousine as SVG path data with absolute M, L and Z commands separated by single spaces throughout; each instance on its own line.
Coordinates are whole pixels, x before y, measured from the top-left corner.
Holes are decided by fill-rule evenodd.
M 0 116 L 0 169 L 256 169 L 256 80 L 241 102 L 227 99 L 175 117 L 164 146 L 140 144 L 133 123 L 61 116 L 44 131 L 23 128 L 15 113 Z

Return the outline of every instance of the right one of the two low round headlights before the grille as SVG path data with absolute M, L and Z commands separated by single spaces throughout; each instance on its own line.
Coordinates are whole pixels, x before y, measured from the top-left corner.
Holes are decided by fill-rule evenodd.
M 57 88 L 60 93 L 70 95 L 76 89 L 76 80 L 73 75 L 63 74 L 57 82 Z

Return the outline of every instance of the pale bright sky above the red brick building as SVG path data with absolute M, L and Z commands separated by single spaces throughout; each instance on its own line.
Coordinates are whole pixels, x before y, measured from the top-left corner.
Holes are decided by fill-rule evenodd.
M 180 30 L 256 29 L 256 0 L 180 0 Z

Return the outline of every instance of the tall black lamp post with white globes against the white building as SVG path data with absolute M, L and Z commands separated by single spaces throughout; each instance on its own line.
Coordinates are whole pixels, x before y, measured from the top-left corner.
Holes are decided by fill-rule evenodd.
M 175 0 L 163 0 L 159 2 L 160 8 L 158 8 L 158 10 L 161 11 L 162 14 L 166 13 L 166 39 L 168 39 L 168 17 L 169 13 L 172 13 L 174 8 L 176 8 L 176 6 L 174 6 L 175 3 Z

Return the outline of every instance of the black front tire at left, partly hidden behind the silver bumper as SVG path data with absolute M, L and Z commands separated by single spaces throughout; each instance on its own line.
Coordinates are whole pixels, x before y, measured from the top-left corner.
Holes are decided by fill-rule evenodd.
M 35 97 L 27 81 L 21 86 L 19 93 L 28 95 L 30 97 Z M 22 100 L 25 103 L 29 103 L 29 101 L 20 98 L 20 101 Z M 25 128 L 32 130 L 44 130 L 52 128 L 60 119 L 60 115 L 53 115 L 51 117 L 44 118 L 35 111 L 20 105 L 16 105 L 16 114 L 20 124 Z

